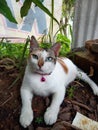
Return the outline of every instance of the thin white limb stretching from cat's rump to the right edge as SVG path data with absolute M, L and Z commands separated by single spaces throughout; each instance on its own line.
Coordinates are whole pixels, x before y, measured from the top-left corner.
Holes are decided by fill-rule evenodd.
M 87 82 L 90 87 L 92 88 L 93 90 L 93 93 L 95 95 L 98 95 L 98 86 L 94 83 L 94 81 L 92 81 L 88 75 L 86 73 L 84 73 L 83 71 L 81 71 L 80 69 L 78 69 L 78 72 L 77 72 L 77 78 Z

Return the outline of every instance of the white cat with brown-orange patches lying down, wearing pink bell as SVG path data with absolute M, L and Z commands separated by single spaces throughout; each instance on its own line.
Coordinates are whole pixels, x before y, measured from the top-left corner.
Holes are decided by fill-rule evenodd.
M 30 54 L 20 89 L 22 109 L 20 124 L 26 128 L 33 121 L 32 99 L 34 95 L 52 95 L 51 105 L 44 114 L 47 125 L 56 122 L 66 87 L 76 77 L 91 86 L 98 95 L 98 86 L 68 58 L 58 58 L 60 43 L 50 49 L 42 49 L 34 36 L 30 39 Z

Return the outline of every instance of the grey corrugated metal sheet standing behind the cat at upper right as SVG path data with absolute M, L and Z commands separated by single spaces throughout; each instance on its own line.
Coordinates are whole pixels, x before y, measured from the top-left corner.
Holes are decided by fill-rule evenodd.
M 81 47 L 91 39 L 98 39 L 98 0 L 76 0 L 72 45 Z

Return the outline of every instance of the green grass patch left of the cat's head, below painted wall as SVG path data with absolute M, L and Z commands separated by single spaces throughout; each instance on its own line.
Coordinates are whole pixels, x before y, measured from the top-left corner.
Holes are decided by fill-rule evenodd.
M 26 43 L 0 42 L 0 59 L 10 58 L 17 63 L 17 67 L 20 67 L 20 65 L 27 58 L 28 54 L 28 40 Z

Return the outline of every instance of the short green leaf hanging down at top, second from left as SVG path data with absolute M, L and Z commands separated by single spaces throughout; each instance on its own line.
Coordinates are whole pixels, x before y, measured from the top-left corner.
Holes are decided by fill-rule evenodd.
M 24 1 L 23 6 L 21 7 L 21 10 L 20 10 L 20 14 L 22 18 L 28 14 L 31 4 L 32 4 L 32 0 Z

